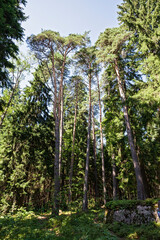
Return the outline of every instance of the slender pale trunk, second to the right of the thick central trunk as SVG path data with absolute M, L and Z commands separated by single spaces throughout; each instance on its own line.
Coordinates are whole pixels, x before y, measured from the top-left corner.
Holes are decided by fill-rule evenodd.
M 97 86 L 98 86 L 98 101 L 99 101 L 100 137 L 101 137 L 103 202 L 104 202 L 104 205 L 106 205 L 106 178 L 105 178 L 104 149 L 103 149 L 103 132 L 102 132 L 102 108 L 101 108 L 101 94 L 100 94 L 100 87 L 99 87 L 99 79 L 98 79 L 98 76 L 97 76 Z

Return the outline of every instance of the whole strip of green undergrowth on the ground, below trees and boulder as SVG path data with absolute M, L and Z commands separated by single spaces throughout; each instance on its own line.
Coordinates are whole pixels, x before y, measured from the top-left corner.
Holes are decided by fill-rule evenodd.
M 15 215 L 0 217 L 0 239 L 4 240 L 122 240 L 160 239 L 160 226 L 107 225 L 104 210 L 35 214 L 21 210 Z M 142 228 L 142 229 L 141 229 Z M 137 230 L 138 229 L 138 230 Z M 148 229 L 148 230 L 147 230 Z M 142 231 L 143 230 L 143 231 Z M 149 234 L 149 233 L 150 234 Z M 147 235 L 149 234 L 149 235 Z

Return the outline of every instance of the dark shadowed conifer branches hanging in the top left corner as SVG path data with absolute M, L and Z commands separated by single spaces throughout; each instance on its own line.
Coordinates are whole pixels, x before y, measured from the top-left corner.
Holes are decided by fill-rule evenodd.
M 15 40 L 23 38 L 21 23 L 26 19 L 22 8 L 25 5 L 26 0 L 0 1 L 0 88 L 8 87 L 7 68 L 14 67 L 9 58 L 16 58 L 18 46 Z

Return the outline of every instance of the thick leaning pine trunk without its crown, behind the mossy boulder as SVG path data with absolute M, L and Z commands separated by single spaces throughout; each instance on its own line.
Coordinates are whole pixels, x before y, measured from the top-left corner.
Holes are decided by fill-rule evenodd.
M 123 84 L 122 84 L 122 81 L 120 78 L 118 63 L 117 63 L 116 59 L 115 59 L 115 71 L 116 71 L 117 80 L 118 80 L 120 97 L 121 97 L 122 104 L 123 104 L 123 113 L 124 113 L 124 119 L 125 119 L 125 124 L 126 124 L 128 142 L 129 142 L 130 149 L 131 149 L 131 155 L 132 155 L 132 160 L 133 160 L 133 165 L 134 165 L 134 170 L 135 170 L 135 175 L 136 175 L 137 198 L 140 200 L 144 200 L 146 198 L 144 184 L 143 184 L 143 180 L 142 180 L 142 174 L 141 174 L 140 165 L 138 162 L 137 153 L 136 153 L 134 142 L 133 142 L 132 130 L 131 130 L 129 116 L 128 116 L 128 109 L 127 109 L 127 105 L 126 105 L 126 97 L 125 97 Z

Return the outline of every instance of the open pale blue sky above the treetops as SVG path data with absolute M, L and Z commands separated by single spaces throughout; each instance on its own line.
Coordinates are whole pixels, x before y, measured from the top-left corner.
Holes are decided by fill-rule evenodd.
M 91 31 L 94 43 L 100 32 L 118 26 L 117 4 L 122 0 L 28 0 L 24 9 L 29 16 L 22 24 L 25 37 L 41 30 L 58 31 L 62 36 Z

